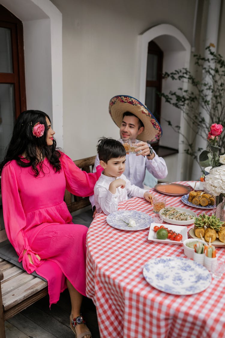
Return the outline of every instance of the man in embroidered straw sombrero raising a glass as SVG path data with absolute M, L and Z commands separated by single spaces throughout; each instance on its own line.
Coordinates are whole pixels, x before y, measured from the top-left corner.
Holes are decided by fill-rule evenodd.
M 120 139 L 140 140 L 136 149 L 140 153 L 126 155 L 124 175 L 131 184 L 144 188 L 143 182 L 146 169 L 156 178 L 167 176 L 167 166 L 150 146 L 150 143 L 162 136 L 162 128 L 157 119 L 146 106 L 132 96 L 117 95 L 109 102 L 109 114 L 120 128 Z M 99 165 L 96 156 L 94 169 Z M 93 207 L 93 198 L 90 198 Z

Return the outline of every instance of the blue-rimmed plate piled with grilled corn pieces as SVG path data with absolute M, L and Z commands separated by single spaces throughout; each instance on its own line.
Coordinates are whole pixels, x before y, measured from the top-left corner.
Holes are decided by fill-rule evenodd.
M 189 194 L 181 197 L 181 201 L 189 207 L 199 209 L 213 209 L 215 197 L 204 191 L 190 191 Z

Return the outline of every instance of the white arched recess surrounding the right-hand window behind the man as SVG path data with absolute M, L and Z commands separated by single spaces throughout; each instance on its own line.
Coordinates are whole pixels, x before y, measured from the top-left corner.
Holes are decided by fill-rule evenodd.
M 154 41 L 163 51 L 163 72 L 171 72 L 177 68 L 189 68 L 191 45 L 187 38 L 176 27 L 168 24 L 161 24 L 152 27 L 140 34 L 138 37 L 138 78 L 137 93 L 141 102 L 145 102 L 145 86 L 146 86 L 146 70 L 147 70 L 147 51 L 148 43 Z M 180 87 L 185 89 L 185 84 L 181 83 Z M 177 82 L 164 79 L 162 83 L 162 91 L 177 89 Z M 150 108 L 150 107 L 149 107 Z M 182 133 L 187 133 L 187 125 L 179 112 L 174 112 L 174 108 L 162 101 L 161 104 L 161 126 L 163 136 L 160 139 L 160 145 L 171 148 L 178 148 L 179 153 L 173 155 L 172 162 L 176 161 L 177 170 L 173 167 L 172 162 L 167 163 L 168 171 L 175 171 L 174 180 L 182 180 L 184 178 L 184 168 L 187 166 L 187 156 L 184 156 L 184 145 L 181 142 L 180 135 L 174 134 L 171 138 L 171 128 L 168 127 L 165 120 L 170 120 L 173 125 L 180 125 Z M 169 160 L 167 160 L 170 162 Z M 166 162 L 167 162 L 166 161 Z M 169 166 L 171 165 L 171 170 Z

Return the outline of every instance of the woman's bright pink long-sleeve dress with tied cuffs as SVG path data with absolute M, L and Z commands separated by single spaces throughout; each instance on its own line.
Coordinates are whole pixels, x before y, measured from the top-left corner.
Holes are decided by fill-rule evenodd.
M 60 292 L 66 288 L 66 278 L 76 290 L 86 294 L 88 228 L 72 223 L 63 197 L 65 188 L 74 195 L 92 195 L 102 171 L 99 166 L 96 173 L 86 173 L 64 153 L 60 162 L 61 171 L 55 172 L 45 159 L 44 173 L 35 177 L 31 167 L 21 167 L 13 160 L 4 166 L 1 179 L 8 239 L 24 269 L 28 273 L 36 271 L 48 281 L 50 305 L 59 300 Z M 34 264 L 29 263 L 28 254 Z

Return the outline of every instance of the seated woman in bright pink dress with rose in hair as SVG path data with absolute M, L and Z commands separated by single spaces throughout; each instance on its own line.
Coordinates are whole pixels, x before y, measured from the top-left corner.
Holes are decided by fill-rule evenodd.
M 72 223 L 63 197 L 65 189 L 78 196 L 92 195 L 102 168 L 96 173 L 80 170 L 56 149 L 54 134 L 43 112 L 26 111 L 17 119 L 0 164 L 5 230 L 24 269 L 48 281 L 50 305 L 68 288 L 70 327 L 77 337 L 90 338 L 80 315 L 82 295 L 86 295 L 88 228 Z

